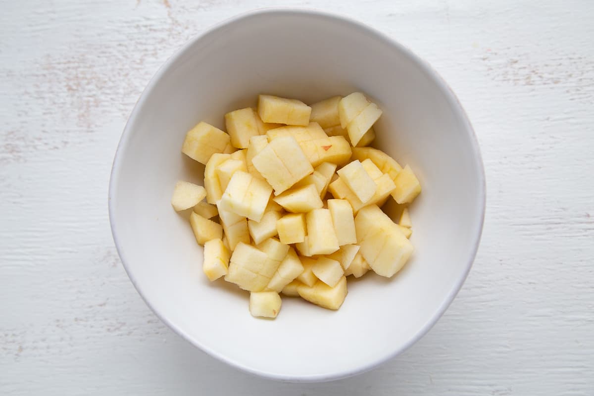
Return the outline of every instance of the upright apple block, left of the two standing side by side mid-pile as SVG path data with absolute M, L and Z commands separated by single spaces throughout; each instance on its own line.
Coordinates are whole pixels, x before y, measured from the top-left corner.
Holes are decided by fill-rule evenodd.
M 305 223 L 310 254 L 331 254 L 339 249 L 330 210 L 312 210 L 305 216 Z

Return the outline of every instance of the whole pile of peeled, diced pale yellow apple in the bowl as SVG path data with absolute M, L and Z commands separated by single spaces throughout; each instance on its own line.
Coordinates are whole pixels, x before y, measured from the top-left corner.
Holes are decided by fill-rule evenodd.
M 380 115 L 362 93 L 311 107 L 260 95 L 257 110 L 225 115 L 228 133 L 192 128 L 182 152 L 206 165 L 204 187 L 178 182 L 172 205 L 193 208 L 208 279 L 248 290 L 252 315 L 274 318 L 279 293 L 338 309 L 348 275 L 396 274 L 413 251 L 406 204 L 421 186 L 409 166 L 365 147 Z M 398 224 L 380 209 L 390 198 L 404 207 Z

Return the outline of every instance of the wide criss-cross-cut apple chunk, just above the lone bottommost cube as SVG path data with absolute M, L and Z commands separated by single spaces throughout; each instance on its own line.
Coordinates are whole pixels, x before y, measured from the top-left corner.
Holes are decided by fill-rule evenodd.
M 266 253 L 240 242 L 231 255 L 225 280 L 249 292 L 261 292 L 270 282 L 270 278 L 260 274 L 267 261 Z

